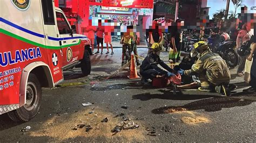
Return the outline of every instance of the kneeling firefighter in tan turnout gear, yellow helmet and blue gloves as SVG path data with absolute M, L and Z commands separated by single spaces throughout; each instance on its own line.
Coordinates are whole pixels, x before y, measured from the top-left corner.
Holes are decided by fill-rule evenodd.
M 230 91 L 234 90 L 236 85 L 230 83 L 230 70 L 225 60 L 218 54 L 211 52 L 205 41 L 199 41 L 193 45 L 191 57 L 197 56 L 199 59 L 189 70 L 179 70 L 181 75 L 198 75 L 201 83 L 199 91 L 216 91 L 226 96 L 230 96 Z

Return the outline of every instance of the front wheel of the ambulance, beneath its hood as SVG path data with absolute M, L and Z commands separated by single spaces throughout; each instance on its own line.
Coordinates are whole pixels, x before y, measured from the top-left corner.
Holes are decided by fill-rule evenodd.
M 91 59 L 87 49 L 84 51 L 84 58 L 81 63 L 81 69 L 84 76 L 87 76 L 91 73 Z

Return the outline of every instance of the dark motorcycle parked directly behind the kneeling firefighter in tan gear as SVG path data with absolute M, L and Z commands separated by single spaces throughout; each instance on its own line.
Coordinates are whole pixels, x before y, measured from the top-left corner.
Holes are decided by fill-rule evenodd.
M 238 65 L 239 56 L 235 52 L 235 41 L 221 41 L 220 34 L 213 34 L 208 37 L 208 44 L 212 52 L 219 54 L 226 61 L 228 67 Z

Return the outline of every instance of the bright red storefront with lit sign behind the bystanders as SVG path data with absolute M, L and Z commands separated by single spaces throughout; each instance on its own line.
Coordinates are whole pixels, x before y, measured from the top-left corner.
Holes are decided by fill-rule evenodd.
M 80 34 L 86 34 L 86 27 L 95 23 L 89 19 L 108 19 L 116 23 L 114 26 L 143 25 L 143 28 L 152 25 L 153 20 L 153 0 L 57 0 L 55 6 L 65 12 Z M 113 41 L 119 39 L 118 36 L 112 38 Z

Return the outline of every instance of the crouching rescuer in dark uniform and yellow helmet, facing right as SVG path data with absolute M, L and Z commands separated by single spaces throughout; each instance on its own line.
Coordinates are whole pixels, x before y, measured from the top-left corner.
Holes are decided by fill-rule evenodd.
M 150 54 L 146 56 L 140 66 L 140 75 L 142 75 L 142 83 L 144 85 L 151 85 L 147 80 L 153 80 L 154 77 L 175 76 L 175 74 L 172 73 L 173 69 L 160 59 L 160 51 L 161 46 L 158 43 L 154 43 L 151 46 Z M 167 71 L 159 68 L 157 66 L 158 64 Z

